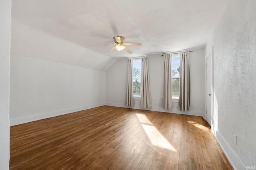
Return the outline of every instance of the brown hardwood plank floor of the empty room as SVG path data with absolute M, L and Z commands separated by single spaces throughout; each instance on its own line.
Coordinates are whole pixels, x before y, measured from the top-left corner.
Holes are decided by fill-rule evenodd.
M 10 170 L 232 170 L 198 116 L 101 106 L 10 127 Z

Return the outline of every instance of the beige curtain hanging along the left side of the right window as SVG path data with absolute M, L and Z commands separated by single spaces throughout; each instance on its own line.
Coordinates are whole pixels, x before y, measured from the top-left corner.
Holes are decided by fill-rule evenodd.
M 172 54 L 164 55 L 164 99 L 163 108 L 172 109 Z

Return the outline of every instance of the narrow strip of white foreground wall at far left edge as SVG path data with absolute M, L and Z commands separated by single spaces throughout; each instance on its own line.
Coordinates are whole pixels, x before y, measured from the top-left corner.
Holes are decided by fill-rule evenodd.
M 0 3 L 0 169 L 9 169 L 10 160 L 10 39 L 11 1 Z

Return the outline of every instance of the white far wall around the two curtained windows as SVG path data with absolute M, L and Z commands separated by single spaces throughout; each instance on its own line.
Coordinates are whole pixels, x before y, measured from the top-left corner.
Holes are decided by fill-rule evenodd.
M 127 59 L 117 60 L 106 71 L 106 105 L 126 107 L 124 105 L 127 88 Z M 190 111 L 179 111 L 178 100 L 174 100 L 173 109 L 162 108 L 162 97 L 164 87 L 164 59 L 161 55 L 151 55 L 148 57 L 148 67 L 150 74 L 150 89 L 152 98 L 152 108 L 148 110 L 165 111 L 170 113 L 182 113 L 190 115 L 204 115 L 205 106 L 205 68 L 203 49 L 194 50 L 190 53 L 190 77 L 191 77 L 191 104 Z M 157 102 L 157 104 L 155 104 Z M 139 100 L 134 100 L 135 106 L 140 109 Z

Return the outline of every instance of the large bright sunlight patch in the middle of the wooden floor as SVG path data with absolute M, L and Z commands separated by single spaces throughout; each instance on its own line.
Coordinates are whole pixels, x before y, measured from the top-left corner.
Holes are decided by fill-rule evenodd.
M 145 115 L 136 115 L 142 123 L 142 127 L 148 135 L 148 138 L 150 139 L 152 145 L 177 152 L 177 150 L 165 139 L 165 137 L 156 129 L 156 127 L 152 125 L 152 123 Z

